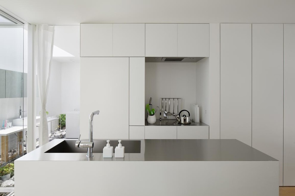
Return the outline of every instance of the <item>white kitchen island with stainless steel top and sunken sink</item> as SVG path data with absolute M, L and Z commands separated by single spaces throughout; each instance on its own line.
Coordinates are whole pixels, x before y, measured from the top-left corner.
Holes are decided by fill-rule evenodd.
M 238 140 L 140 140 L 124 158 L 103 158 L 96 143 L 92 158 L 69 153 L 68 141 L 15 160 L 15 195 L 279 195 L 279 161 Z

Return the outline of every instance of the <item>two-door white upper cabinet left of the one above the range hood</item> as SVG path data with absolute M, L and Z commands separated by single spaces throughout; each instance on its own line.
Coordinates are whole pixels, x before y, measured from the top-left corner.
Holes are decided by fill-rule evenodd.
M 80 56 L 145 56 L 145 24 L 81 24 Z

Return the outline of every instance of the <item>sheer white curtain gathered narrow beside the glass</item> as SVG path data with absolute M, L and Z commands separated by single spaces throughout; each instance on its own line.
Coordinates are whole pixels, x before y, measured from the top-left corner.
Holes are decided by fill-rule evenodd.
M 54 41 L 54 26 L 37 25 L 35 31 L 35 63 L 37 67 L 37 82 L 41 101 L 39 146 L 48 143 L 48 124 L 46 117 L 46 102 L 50 80 L 52 50 Z

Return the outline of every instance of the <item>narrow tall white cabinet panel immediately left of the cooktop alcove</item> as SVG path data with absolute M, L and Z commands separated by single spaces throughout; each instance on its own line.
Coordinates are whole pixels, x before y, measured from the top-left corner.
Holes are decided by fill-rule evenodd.
M 129 60 L 129 125 L 145 125 L 145 57 Z

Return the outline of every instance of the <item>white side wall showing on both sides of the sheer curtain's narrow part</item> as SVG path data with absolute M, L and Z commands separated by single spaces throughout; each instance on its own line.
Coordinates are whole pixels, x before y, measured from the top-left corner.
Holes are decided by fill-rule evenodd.
M 53 60 L 51 64 L 49 90 L 46 104 L 46 111 L 49 112 L 48 116 L 55 116 L 61 113 L 61 75 L 61 63 Z M 37 93 L 38 92 L 39 91 L 37 90 Z M 37 94 L 36 116 L 40 116 L 40 111 L 41 103 L 39 95 Z

